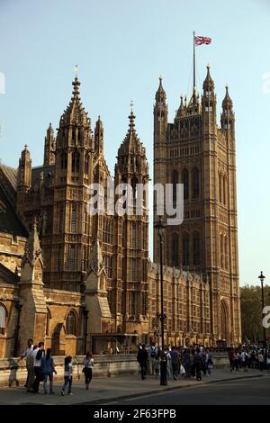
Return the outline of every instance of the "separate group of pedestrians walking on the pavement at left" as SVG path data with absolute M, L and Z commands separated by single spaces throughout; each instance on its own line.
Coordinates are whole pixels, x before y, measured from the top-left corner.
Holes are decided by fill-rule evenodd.
M 32 339 L 28 339 L 21 359 L 26 360 L 27 379 L 24 384 L 27 392 L 39 393 L 40 382 L 43 382 L 44 394 L 54 394 L 53 375 L 57 374 L 54 358 L 51 349 L 44 350 L 44 342 L 40 342 L 38 346 L 33 346 Z M 94 367 L 94 358 L 92 353 L 88 352 L 84 359 L 83 373 L 85 374 L 85 389 L 89 389 L 92 380 L 92 370 Z M 49 390 L 48 390 L 49 380 Z M 64 383 L 61 388 L 61 395 L 72 395 L 72 356 L 66 356 L 64 362 Z

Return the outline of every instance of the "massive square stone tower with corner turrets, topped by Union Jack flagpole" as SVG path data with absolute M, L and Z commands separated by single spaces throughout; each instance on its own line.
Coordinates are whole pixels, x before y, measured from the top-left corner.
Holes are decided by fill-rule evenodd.
M 161 85 L 161 84 L 160 84 Z M 166 95 L 157 90 L 154 108 L 154 183 L 184 184 L 184 221 L 167 226 L 166 266 L 202 274 L 210 284 L 212 343 L 240 339 L 234 113 L 228 89 L 221 127 L 210 67 L 202 101 L 193 88 L 189 103 L 181 98 L 173 123 L 166 122 Z M 158 95 L 158 93 L 162 95 Z M 163 121 L 162 121 L 163 117 Z M 154 208 L 157 204 L 154 200 Z M 154 259 L 158 263 L 157 238 Z

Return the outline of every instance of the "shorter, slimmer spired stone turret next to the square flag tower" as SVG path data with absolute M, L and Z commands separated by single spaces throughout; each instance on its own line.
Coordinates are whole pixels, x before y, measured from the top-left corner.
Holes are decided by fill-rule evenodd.
M 115 185 L 122 184 L 128 201 L 126 211 L 117 218 L 121 225 L 121 314 L 122 331 L 148 332 L 148 162 L 145 148 L 135 129 L 135 116 L 130 112 L 130 127 L 118 150 Z M 116 201 L 119 197 L 116 196 Z M 139 206 L 139 212 L 136 210 Z M 139 329 L 139 324 L 142 328 Z

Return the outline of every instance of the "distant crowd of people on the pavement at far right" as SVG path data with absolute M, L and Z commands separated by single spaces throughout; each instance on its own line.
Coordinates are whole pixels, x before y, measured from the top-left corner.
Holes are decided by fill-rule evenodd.
M 270 370 L 270 348 L 242 346 L 229 348 L 230 372 L 247 373 L 248 369 Z

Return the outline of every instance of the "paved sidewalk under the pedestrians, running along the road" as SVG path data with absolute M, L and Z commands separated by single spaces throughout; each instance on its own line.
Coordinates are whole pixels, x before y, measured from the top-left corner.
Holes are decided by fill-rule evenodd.
M 129 376 L 119 376 L 113 378 L 94 378 L 89 391 L 85 390 L 84 379 L 75 381 L 72 387 L 72 396 L 60 395 L 62 383 L 55 383 L 55 394 L 33 394 L 26 392 L 23 388 L 3 388 L 0 389 L 0 405 L 27 405 L 27 404 L 106 404 L 109 402 L 117 402 L 132 397 L 145 396 L 148 393 L 158 393 L 162 391 L 170 391 L 179 388 L 198 386 L 205 383 L 219 383 L 225 381 L 233 381 L 243 378 L 256 378 L 269 376 L 266 372 L 258 372 L 257 370 L 249 370 L 247 374 L 230 373 L 229 370 L 214 370 L 210 377 L 202 375 L 202 381 L 196 380 L 179 380 L 168 381 L 167 386 L 160 386 L 159 380 L 153 376 L 148 376 L 145 381 L 140 380 L 139 374 L 131 374 Z M 43 383 L 40 383 L 40 392 L 43 392 Z

